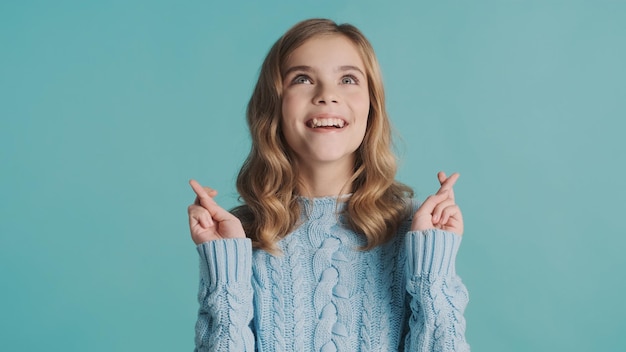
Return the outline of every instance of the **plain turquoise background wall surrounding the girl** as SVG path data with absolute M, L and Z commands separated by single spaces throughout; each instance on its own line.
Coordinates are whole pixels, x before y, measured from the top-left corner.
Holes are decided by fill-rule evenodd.
M 618 351 L 625 1 L 3 1 L 0 349 L 189 351 L 189 178 L 236 204 L 261 61 L 308 17 L 377 50 L 399 179 L 461 172 L 474 351 Z

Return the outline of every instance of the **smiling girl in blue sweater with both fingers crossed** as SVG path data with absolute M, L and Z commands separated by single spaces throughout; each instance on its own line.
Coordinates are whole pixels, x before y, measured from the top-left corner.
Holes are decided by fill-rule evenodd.
M 312 19 L 271 48 L 247 110 L 243 205 L 190 181 L 197 351 L 469 351 L 459 175 L 418 206 L 395 181 L 378 62 Z

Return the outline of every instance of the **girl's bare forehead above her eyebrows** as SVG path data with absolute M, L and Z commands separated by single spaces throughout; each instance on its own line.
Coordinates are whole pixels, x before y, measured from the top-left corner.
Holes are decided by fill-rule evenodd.
M 292 66 L 319 69 L 356 66 L 365 72 L 361 51 L 352 40 L 340 34 L 319 35 L 307 39 L 287 57 L 283 72 Z

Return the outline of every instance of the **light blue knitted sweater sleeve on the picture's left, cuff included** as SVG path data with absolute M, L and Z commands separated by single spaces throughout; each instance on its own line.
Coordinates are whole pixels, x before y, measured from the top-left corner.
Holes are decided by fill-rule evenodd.
M 215 240 L 197 249 L 200 308 L 195 351 L 253 351 L 250 239 Z

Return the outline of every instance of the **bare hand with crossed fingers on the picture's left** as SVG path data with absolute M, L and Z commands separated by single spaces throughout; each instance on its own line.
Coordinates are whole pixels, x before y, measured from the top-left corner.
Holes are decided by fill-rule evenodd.
M 195 180 L 189 181 L 189 184 L 197 195 L 195 202 L 187 208 L 189 230 L 195 244 L 224 238 L 246 237 L 241 221 L 213 200 L 217 191 L 202 187 Z

